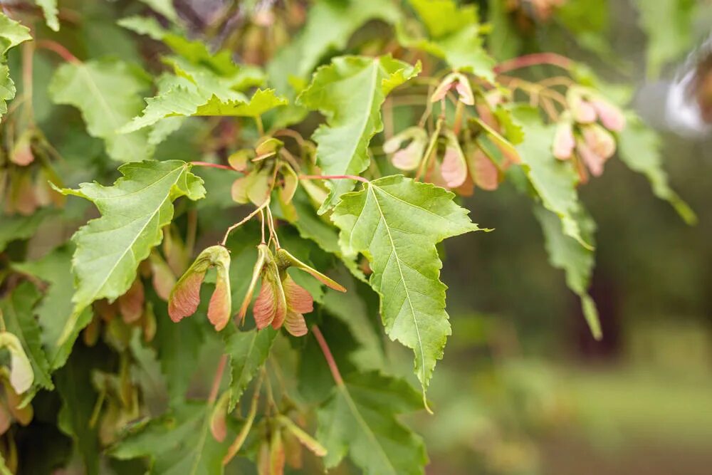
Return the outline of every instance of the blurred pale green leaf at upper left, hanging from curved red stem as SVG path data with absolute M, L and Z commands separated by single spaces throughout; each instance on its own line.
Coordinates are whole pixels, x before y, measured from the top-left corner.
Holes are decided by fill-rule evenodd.
M 57 68 L 49 93 L 54 103 L 78 108 L 92 137 L 106 142 L 110 157 L 120 162 L 150 158 L 148 131 L 120 135 L 120 127 L 141 112 L 145 75 L 118 60 L 65 63 Z

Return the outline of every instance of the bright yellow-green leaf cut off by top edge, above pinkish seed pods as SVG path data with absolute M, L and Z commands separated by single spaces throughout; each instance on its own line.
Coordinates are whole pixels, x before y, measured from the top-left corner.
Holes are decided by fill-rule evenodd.
M 459 8 L 452 0 L 410 0 L 425 24 L 429 38 L 413 38 L 402 25 L 399 41 L 443 58 L 451 68 L 494 82 L 495 61 L 483 47 L 476 6 Z

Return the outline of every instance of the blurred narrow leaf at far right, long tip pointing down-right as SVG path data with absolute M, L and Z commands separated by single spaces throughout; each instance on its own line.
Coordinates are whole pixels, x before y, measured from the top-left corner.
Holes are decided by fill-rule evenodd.
M 695 224 L 695 212 L 671 189 L 662 167 L 660 137 L 633 113 L 626 118 L 627 125 L 619 133 L 618 156 L 634 172 L 644 174 L 656 197 L 669 202 L 687 224 Z

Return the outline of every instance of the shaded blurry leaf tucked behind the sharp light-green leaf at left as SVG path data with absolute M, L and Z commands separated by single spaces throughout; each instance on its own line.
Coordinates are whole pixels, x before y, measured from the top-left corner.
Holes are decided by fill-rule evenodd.
M 13 265 L 17 271 L 28 273 L 48 284 L 45 296 L 36 307 L 35 313 L 42 329 L 42 344 L 52 370 L 64 365 L 74 343 L 73 339 L 70 339 L 58 345 L 62 330 L 73 310 L 73 281 L 67 278 L 72 272 L 71 259 L 70 246 L 61 246 L 37 261 Z M 87 325 L 91 316 L 91 309 L 86 308 L 77 321 L 77 327 L 83 328 Z

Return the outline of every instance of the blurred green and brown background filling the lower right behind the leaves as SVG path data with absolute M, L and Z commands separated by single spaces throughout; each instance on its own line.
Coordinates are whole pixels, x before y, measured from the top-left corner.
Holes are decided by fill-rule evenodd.
M 610 8 L 640 87 L 644 34 L 629 2 Z M 582 58 L 617 77 L 605 57 Z M 429 474 L 712 473 L 712 140 L 663 136 L 697 226 L 617 160 L 580 190 L 598 224 L 602 342 L 549 266 L 528 199 L 507 186 L 468 199 L 496 230 L 446 246 L 453 336 L 431 386 L 436 416 L 416 421 Z

